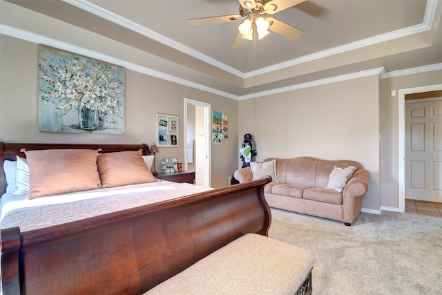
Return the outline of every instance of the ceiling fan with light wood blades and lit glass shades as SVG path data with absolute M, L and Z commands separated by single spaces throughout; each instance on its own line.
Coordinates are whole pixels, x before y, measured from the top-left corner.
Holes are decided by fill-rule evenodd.
M 253 40 L 253 37 L 262 39 L 269 35 L 269 30 L 276 32 L 286 38 L 294 40 L 302 35 L 302 30 L 290 26 L 287 23 L 278 21 L 268 15 L 285 10 L 291 6 L 306 0 L 238 0 L 240 2 L 239 15 L 221 15 L 219 17 L 202 17 L 189 19 L 191 26 L 207 25 L 209 23 L 224 23 L 227 21 L 244 20 L 238 26 L 238 36 L 230 49 L 241 48 L 246 39 Z

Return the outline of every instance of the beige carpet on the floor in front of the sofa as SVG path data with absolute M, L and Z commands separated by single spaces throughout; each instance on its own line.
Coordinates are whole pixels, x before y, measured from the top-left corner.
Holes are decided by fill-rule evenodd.
M 314 295 L 442 294 L 442 218 L 361 213 L 342 222 L 271 209 L 269 236 L 311 251 Z

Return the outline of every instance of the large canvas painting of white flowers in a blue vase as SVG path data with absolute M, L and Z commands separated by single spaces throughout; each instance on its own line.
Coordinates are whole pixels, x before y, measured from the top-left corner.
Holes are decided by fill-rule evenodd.
M 39 131 L 124 134 L 124 68 L 40 46 Z

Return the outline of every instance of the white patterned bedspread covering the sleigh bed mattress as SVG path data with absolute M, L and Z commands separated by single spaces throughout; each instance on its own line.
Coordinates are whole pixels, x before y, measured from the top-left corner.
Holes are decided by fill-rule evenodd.
M 5 194 L 0 200 L 0 228 L 19 226 L 21 231 L 30 231 L 210 189 L 188 183 L 161 181 L 64 193 L 33 200 L 28 200 L 28 196 Z

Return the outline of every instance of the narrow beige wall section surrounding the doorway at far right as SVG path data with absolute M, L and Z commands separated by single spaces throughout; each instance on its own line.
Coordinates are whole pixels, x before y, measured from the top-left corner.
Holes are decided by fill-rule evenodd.
M 381 196 L 386 209 L 398 208 L 398 95 L 400 89 L 442 84 L 442 70 L 381 80 Z M 391 91 L 396 90 L 396 96 Z

